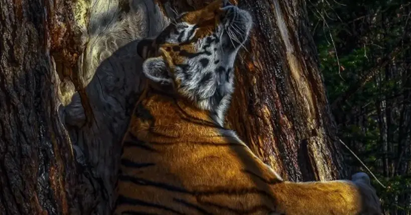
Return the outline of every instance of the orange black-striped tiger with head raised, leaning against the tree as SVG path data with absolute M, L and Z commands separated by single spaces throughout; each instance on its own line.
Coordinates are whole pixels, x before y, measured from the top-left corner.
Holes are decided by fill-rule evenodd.
M 382 214 L 366 173 L 286 181 L 224 127 L 251 28 L 247 11 L 215 0 L 138 43 L 147 85 L 123 136 L 113 214 Z

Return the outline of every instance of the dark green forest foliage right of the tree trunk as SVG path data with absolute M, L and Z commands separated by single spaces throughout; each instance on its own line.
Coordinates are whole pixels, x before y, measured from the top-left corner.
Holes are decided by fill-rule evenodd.
M 329 101 L 338 102 L 340 138 L 387 187 L 373 180 L 385 213 L 411 214 L 410 3 L 307 4 Z M 364 171 L 347 158 L 353 171 Z

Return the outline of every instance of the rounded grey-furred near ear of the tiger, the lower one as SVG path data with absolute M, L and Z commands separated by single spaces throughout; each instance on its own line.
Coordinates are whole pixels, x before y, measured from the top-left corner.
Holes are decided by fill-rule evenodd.
M 149 58 L 143 63 L 144 75 L 156 84 L 171 85 L 172 78 L 169 75 L 169 68 L 163 56 Z

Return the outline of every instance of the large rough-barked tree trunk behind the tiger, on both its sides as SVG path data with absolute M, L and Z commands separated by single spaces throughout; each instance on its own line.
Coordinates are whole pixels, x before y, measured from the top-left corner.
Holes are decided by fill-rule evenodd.
M 109 214 L 136 41 L 203 1 L 0 0 L 0 212 Z M 283 177 L 343 171 L 304 1 L 241 1 L 254 31 L 227 121 Z

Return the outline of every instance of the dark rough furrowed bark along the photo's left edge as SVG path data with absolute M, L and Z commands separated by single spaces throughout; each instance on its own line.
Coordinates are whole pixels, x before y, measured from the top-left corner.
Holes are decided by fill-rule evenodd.
M 0 213 L 79 214 L 95 205 L 98 187 L 73 162 L 59 118 L 48 6 L 2 0 L 0 8 Z

